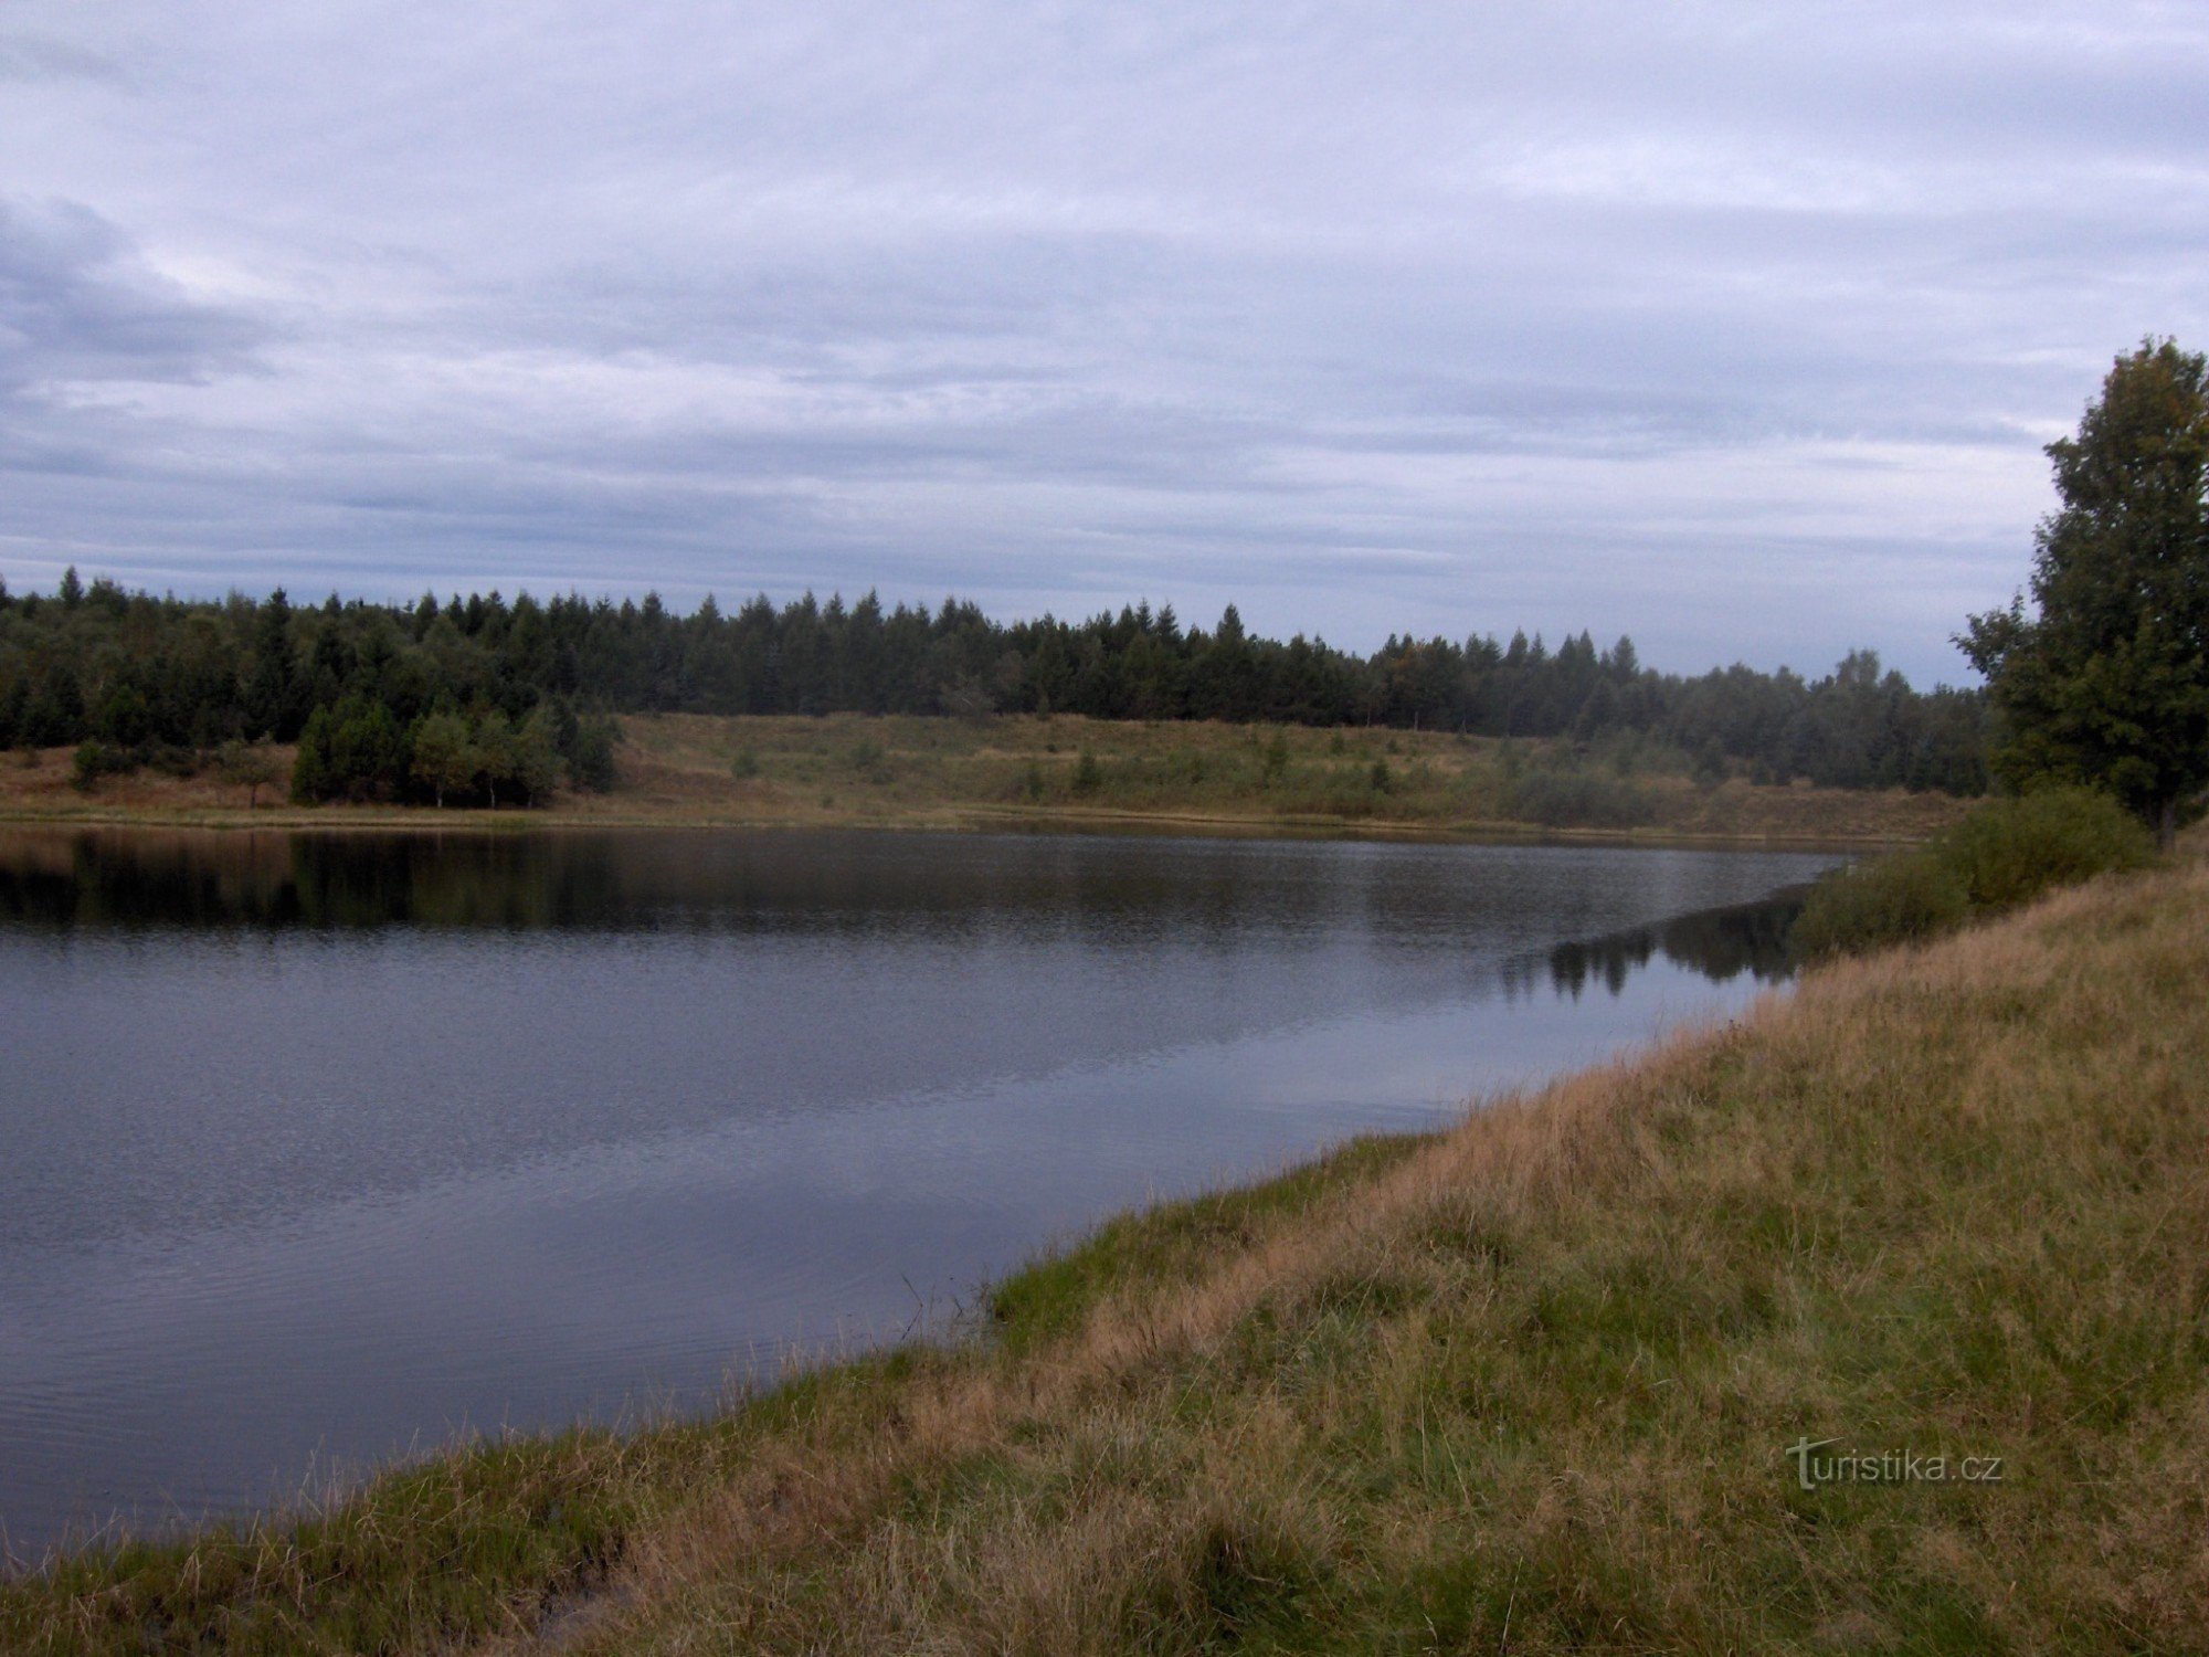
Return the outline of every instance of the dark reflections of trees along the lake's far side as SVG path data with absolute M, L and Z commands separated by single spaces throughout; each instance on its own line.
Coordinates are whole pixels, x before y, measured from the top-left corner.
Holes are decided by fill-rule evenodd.
M 981 846 L 983 855 L 945 855 Z M 18 828 L 0 851 L 0 926 L 51 930 L 389 928 L 433 930 L 767 930 L 972 924 L 1049 915 L 1071 924 L 1142 912 L 1158 924 L 1292 932 L 1339 912 L 1345 897 L 1412 919 L 1440 906 L 1507 919 L 1495 884 L 1438 890 L 1436 857 L 1495 866 L 1577 859 L 1604 868 L 1584 893 L 1617 897 L 1619 859 L 1672 859 L 1668 875 L 1705 873 L 1741 853 L 1619 853 L 1526 846 L 1314 846 L 1310 842 L 1144 842 L 912 835 L 716 835 L 694 831 L 577 833 L 214 833 Z M 1383 862 L 1385 882 L 1343 888 L 1314 866 Z M 1822 866 L 1794 853 L 1750 853 L 1765 866 Z M 1624 864 L 1632 868 L 1632 864 Z M 1655 870 L 1632 870 L 1637 877 Z M 1692 875 L 1690 875 L 1692 879 Z M 1630 882 L 1648 886 L 1648 882 Z M 1708 890 L 1657 882 L 1663 895 Z M 1716 888 L 1710 888 L 1716 890 Z M 1573 915 L 1597 908 L 1575 906 Z M 1785 897 L 1670 917 L 1661 930 L 1562 943 L 1560 985 L 1606 981 L 1655 950 L 1725 979 L 1778 977 Z M 1557 917 L 1571 919 L 1571 917 Z M 1639 950 L 1639 954 L 1635 954 Z

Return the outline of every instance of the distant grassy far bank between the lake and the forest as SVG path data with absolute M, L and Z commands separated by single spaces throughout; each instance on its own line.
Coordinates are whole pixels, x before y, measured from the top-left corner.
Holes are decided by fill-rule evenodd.
M 1317 831 L 1886 842 L 1964 802 L 1904 791 L 1754 787 L 1697 775 L 1655 742 L 1495 742 L 1434 731 L 1058 718 L 625 718 L 621 787 L 550 811 L 283 804 L 247 809 L 212 773 L 71 784 L 66 751 L 0 760 L 0 817 L 183 824 L 1113 824 Z M 287 756 L 281 756 L 285 767 Z

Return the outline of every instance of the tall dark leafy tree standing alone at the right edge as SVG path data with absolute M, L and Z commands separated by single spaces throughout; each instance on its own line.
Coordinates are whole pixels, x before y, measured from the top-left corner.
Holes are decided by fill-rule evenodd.
M 2169 846 L 2209 787 L 2209 365 L 2143 342 L 2048 455 L 2037 614 L 2019 594 L 1957 636 L 1999 711 L 1993 767 L 2103 787 Z

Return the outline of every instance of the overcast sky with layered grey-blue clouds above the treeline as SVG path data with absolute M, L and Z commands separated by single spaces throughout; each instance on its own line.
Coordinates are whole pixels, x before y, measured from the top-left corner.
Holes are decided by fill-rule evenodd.
M 1968 683 L 2202 4 L 0 0 L 0 577 Z

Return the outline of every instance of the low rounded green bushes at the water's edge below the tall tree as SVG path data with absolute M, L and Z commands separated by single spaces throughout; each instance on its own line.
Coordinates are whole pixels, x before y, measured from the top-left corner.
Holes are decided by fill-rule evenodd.
M 2136 817 L 2092 789 L 1988 800 L 1928 844 L 1838 868 L 1794 924 L 1805 961 L 1915 943 L 2030 904 L 2054 886 L 2143 868 L 2154 844 Z

